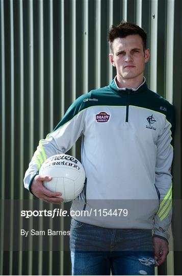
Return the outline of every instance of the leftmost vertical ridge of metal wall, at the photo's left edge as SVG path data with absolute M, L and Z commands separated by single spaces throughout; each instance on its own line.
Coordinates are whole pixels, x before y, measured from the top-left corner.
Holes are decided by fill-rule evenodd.
M 0 274 L 3 275 L 4 257 L 4 221 L 5 221 L 5 19 L 4 19 L 4 0 L 1 1 L 1 72 L 2 72 L 2 105 L 1 105 L 1 124 L 2 124 L 2 145 L 1 145 L 1 251 L 0 251 Z

